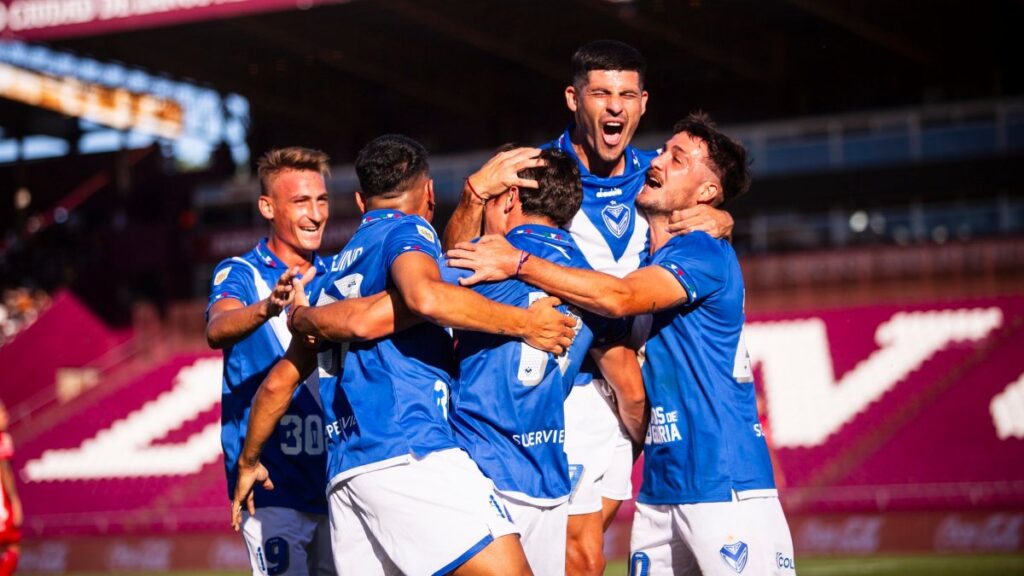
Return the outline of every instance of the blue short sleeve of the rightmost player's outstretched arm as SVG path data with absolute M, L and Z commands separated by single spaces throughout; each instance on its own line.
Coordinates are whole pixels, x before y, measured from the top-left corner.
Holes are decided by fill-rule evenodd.
M 726 262 L 718 242 L 694 232 L 673 238 L 654 256 L 654 264 L 669 271 L 686 290 L 687 304 L 699 302 L 725 284 Z

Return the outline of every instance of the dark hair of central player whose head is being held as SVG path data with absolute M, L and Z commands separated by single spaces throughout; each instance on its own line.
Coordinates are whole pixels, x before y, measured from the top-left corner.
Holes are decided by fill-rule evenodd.
M 519 188 L 519 203 L 524 214 L 546 216 L 564 228 L 583 204 L 583 182 L 575 160 L 558 149 L 541 152 L 546 166 L 519 171 L 520 178 L 537 180 L 538 188 Z

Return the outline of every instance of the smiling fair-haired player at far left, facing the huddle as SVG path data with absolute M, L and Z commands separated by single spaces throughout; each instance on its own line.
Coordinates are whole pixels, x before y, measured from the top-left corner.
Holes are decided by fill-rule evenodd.
M 220 262 L 213 275 L 207 339 L 224 351 L 221 446 L 228 498 L 234 496 L 253 395 L 291 340 L 283 311 L 296 290 L 305 289 L 294 280 L 302 273 L 307 283 L 317 270 L 327 271 L 316 255 L 328 218 L 327 173 L 327 155 L 313 150 L 278 149 L 260 158 L 259 211 L 270 236 Z M 263 463 L 278 487 L 256 490 L 259 513 L 247 515 L 242 525 L 254 575 L 334 573 L 318 396 L 315 382 L 299 387 L 266 443 Z

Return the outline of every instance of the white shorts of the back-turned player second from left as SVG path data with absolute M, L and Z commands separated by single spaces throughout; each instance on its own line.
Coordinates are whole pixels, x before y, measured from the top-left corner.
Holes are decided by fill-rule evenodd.
M 463 450 L 372 470 L 328 495 L 341 576 L 446 574 L 519 530 Z

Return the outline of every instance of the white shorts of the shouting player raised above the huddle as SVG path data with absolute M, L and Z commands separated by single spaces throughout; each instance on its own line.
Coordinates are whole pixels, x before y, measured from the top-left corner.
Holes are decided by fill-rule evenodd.
M 574 479 L 570 516 L 599 511 L 602 497 L 633 497 L 633 444 L 604 380 L 573 386 L 565 399 L 565 455 Z

